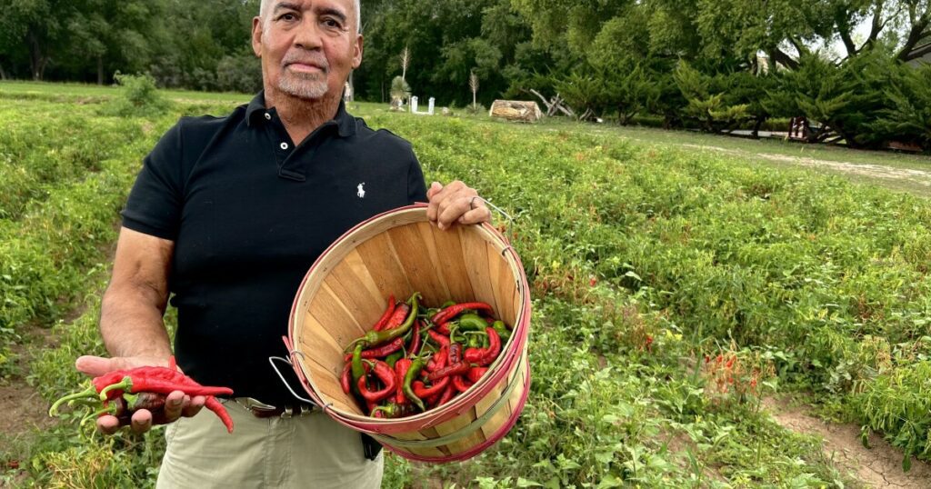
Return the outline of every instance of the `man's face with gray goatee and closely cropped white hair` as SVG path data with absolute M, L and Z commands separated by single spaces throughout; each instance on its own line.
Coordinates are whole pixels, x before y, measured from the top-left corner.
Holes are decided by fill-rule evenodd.
M 362 61 L 353 0 L 273 0 L 252 20 L 263 85 L 305 100 L 338 96 Z

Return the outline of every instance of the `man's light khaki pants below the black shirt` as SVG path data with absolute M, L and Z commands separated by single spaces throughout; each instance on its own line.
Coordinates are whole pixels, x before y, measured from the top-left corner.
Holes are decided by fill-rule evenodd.
M 381 486 L 383 454 L 367 460 L 358 432 L 330 416 L 260 419 L 234 401 L 224 406 L 233 434 L 207 409 L 166 428 L 157 489 Z

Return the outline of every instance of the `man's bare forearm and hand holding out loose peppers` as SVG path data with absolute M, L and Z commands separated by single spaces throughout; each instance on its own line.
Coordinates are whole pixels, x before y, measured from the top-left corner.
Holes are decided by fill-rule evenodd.
M 174 242 L 155 238 L 126 227 L 116 244 L 113 277 L 101 303 L 101 336 L 111 358 L 84 356 L 75 361 L 80 372 L 98 376 L 119 369 L 146 365 L 169 365 L 171 345 L 162 316 L 169 299 L 169 271 Z M 139 410 L 132 415 L 136 432 L 148 431 L 153 423 L 170 423 L 191 416 L 205 399 L 193 399 L 181 391 L 169 394 L 164 413 Z M 97 427 L 103 433 L 119 428 L 115 416 L 101 416 Z

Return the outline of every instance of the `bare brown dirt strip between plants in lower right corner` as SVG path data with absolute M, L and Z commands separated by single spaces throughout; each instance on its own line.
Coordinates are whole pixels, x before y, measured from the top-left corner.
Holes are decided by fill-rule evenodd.
M 784 399 L 767 399 L 763 405 L 783 428 L 821 437 L 825 455 L 867 487 L 931 488 L 931 465 L 912 457 L 911 470 L 903 472 L 902 451 L 876 434 L 870 435 L 871 448 L 866 448 L 859 427 L 827 423 L 809 414 L 805 406 Z

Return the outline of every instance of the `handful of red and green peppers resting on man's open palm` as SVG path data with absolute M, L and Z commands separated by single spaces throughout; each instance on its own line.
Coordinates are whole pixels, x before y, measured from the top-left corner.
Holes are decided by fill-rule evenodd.
M 165 398 L 171 392 L 181 390 L 189 396 L 206 396 L 204 407 L 217 414 L 226 430 L 233 432 L 233 419 L 226 413 L 223 404 L 214 398 L 231 395 L 233 389 L 201 386 L 178 370 L 174 357 L 171 357 L 169 367 L 117 370 L 94 377 L 90 383 L 91 386 L 86 390 L 69 394 L 52 403 L 48 415 L 57 415 L 61 404 L 77 403 L 94 410 L 82 419 L 82 423 L 104 414 L 112 414 L 119 420 L 120 426 L 127 426 L 133 413 L 140 409 L 158 412 L 164 409 Z

